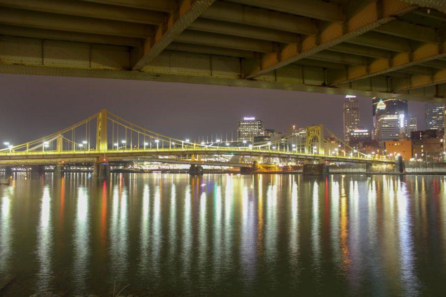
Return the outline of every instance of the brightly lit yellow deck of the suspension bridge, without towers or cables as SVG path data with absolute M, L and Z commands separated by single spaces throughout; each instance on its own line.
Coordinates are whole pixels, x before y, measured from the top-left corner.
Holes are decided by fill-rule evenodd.
M 95 162 L 101 160 L 106 161 L 123 161 L 138 160 L 142 157 L 150 156 L 178 156 L 178 155 L 239 155 L 239 156 L 255 156 L 255 157 L 277 157 L 291 158 L 300 160 L 326 160 L 329 162 L 349 162 L 349 163 L 366 163 L 366 164 L 394 164 L 394 161 L 387 158 L 369 158 L 357 156 L 343 155 L 326 155 L 318 153 L 300 153 L 289 151 L 278 151 L 273 149 L 260 148 L 146 148 L 146 149 L 108 149 L 108 150 L 49 150 L 49 151 L 16 151 L 16 152 L 0 152 L 0 166 L 8 165 L 25 165 L 25 164 L 56 164 L 60 162 Z M 153 159 L 151 159 L 152 161 Z M 181 163 L 184 160 L 181 161 Z M 169 162 L 165 159 L 159 159 L 159 162 Z M 175 161 L 172 161 L 175 162 Z M 188 164 L 192 164 L 190 161 Z M 206 162 L 195 161 L 197 164 L 206 165 Z M 178 160 L 180 163 L 180 160 Z M 216 163 L 216 162 L 214 162 Z M 224 166 L 224 162 L 219 162 L 219 166 Z M 230 165 L 229 165 L 230 164 Z M 227 163 L 226 166 L 234 166 L 234 163 Z M 240 167 L 239 165 L 238 167 Z

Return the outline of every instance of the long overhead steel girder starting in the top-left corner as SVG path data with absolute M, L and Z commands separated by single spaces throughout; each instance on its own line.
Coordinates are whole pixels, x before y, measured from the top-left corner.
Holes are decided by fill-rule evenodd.
M 166 14 L 159 11 L 118 7 L 77 0 L 0 0 L 0 5 L 12 8 L 142 24 L 158 25 L 163 23 L 166 19 Z

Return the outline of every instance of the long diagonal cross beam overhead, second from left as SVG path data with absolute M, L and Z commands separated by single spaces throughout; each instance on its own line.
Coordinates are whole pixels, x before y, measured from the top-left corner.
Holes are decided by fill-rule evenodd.
M 346 15 L 345 22 L 332 22 L 316 35 L 306 37 L 302 42 L 289 44 L 280 52 L 269 52 L 245 78 L 254 78 L 276 70 L 316 52 L 351 40 L 394 20 L 397 16 L 414 10 L 416 6 L 399 0 L 371 1 Z

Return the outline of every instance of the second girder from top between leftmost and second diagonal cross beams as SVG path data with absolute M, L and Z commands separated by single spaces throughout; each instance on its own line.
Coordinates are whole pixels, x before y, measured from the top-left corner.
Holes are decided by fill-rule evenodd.
M 318 32 L 315 22 L 308 17 L 226 1 L 215 1 L 201 17 L 303 35 Z

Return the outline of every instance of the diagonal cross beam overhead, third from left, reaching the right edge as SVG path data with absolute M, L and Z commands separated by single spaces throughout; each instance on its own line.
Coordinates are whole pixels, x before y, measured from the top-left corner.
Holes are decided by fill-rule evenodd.
M 338 85 L 400 70 L 446 56 L 446 43 L 425 43 L 411 52 L 400 52 L 390 59 L 378 58 L 366 66 L 348 66 L 345 71 L 330 73 L 329 85 Z

